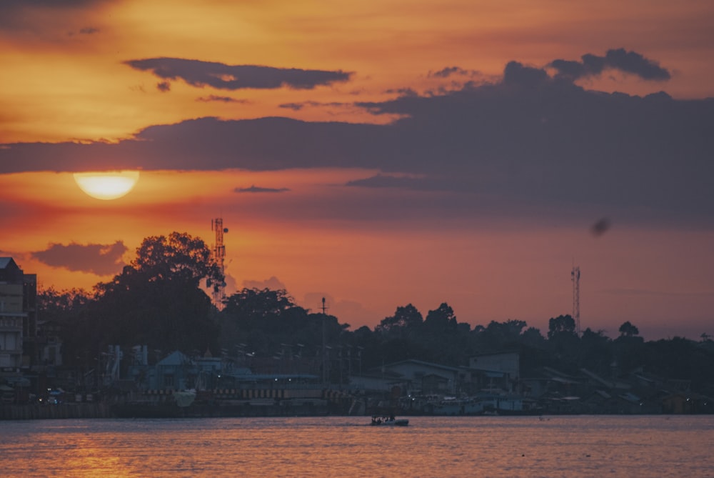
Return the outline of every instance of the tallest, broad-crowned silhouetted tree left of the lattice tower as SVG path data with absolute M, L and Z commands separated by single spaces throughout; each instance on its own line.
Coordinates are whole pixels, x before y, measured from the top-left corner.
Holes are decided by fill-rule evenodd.
M 146 344 L 163 352 L 215 350 L 215 308 L 199 285 L 222 277 L 206 244 L 173 232 L 144 239 L 136 254 L 121 274 L 95 287 L 94 343 L 101 349 Z

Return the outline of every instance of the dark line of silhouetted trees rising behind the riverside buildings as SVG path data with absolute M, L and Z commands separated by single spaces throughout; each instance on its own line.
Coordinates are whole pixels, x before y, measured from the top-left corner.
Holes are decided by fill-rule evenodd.
M 586 368 L 603 377 L 642 370 L 688 379 L 695 391 L 714 394 L 714 342 L 705 334 L 700 342 L 681 337 L 645 342 L 638 328 L 625 322 L 611 339 L 589 328 L 578 334 L 570 315 L 551 318 L 545 335 L 517 319 L 471 327 L 458 322 L 446 302 L 426 317 L 406 304 L 373 329 L 351 330 L 338 317 L 298 306 L 284 289 L 245 288 L 217 309 L 202 286 L 223 279 L 203 240 L 178 232 L 150 236 L 120 274 L 90 292 L 39 291 L 39 316 L 59 327 L 63 363 L 70 367 L 86 367 L 110 344 L 145 344 L 161 356 L 174 350 L 214 355 L 239 350 L 255 357 L 270 357 L 286 344 L 305 357 L 318 357 L 327 345 L 359 353 L 365 370 L 403 359 L 458 367 L 477 354 L 518 350 L 524 376 L 540 367 L 566 373 Z

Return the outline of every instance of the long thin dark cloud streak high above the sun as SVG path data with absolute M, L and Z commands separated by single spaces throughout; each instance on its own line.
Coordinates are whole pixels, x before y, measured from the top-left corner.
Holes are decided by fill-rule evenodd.
M 182 79 L 191 86 L 212 86 L 216 89 L 313 89 L 348 81 L 351 73 L 344 71 L 273 68 L 272 66 L 226 65 L 213 61 L 181 58 L 149 58 L 125 63 L 134 69 L 151 71 L 159 78 Z

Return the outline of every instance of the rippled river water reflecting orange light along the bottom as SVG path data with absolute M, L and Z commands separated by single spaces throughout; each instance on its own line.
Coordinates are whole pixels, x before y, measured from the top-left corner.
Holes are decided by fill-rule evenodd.
M 714 477 L 713 416 L 0 422 L 3 477 Z

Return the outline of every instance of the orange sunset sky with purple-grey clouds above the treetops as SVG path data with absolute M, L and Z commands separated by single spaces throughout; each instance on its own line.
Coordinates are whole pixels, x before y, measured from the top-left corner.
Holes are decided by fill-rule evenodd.
M 0 2 L 0 256 L 91 289 L 149 236 L 352 329 L 573 313 L 714 334 L 708 0 Z M 125 196 L 74 173 L 139 171 Z

